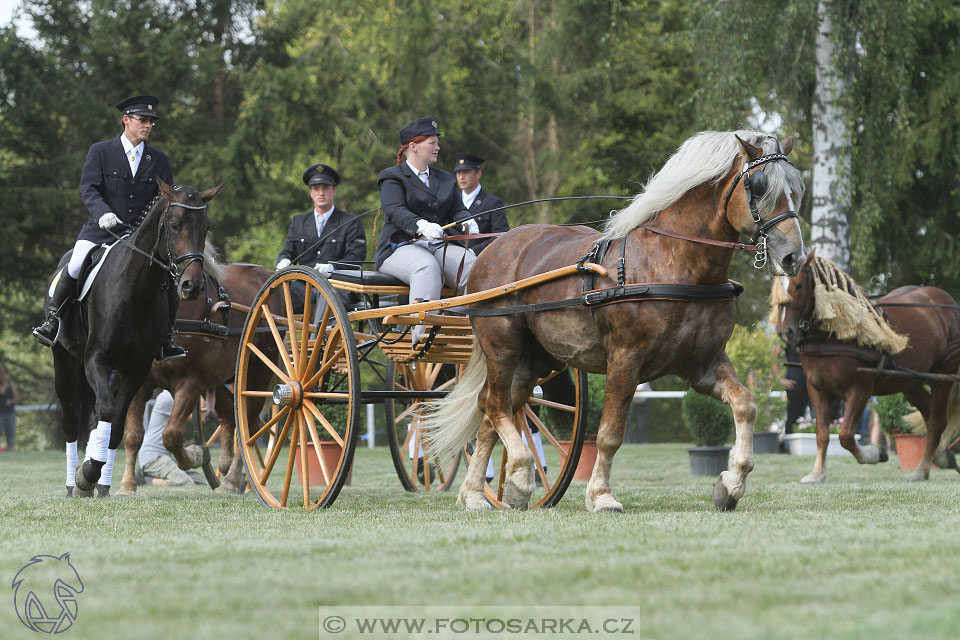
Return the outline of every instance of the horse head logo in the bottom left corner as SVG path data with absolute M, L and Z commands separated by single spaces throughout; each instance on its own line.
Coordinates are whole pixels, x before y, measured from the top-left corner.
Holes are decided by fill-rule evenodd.
M 13 602 L 25 627 L 40 633 L 62 633 L 77 619 L 80 574 L 70 554 L 34 556 L 13 578 Z

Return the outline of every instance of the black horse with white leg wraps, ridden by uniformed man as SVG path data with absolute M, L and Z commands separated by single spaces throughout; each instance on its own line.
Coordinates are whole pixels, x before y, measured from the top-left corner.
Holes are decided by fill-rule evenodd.
M 163 287 L 176 286 L 181 299 L 196 297 L 203 287 L 201 263 L 210 227 L 205 203 L 223 185 L 197 192 L 159 182 L 160 192 L 137 230 L 106 255 L 89 293 L 70 310 L 53 347 L 67 442 L 67 495 L 94 486 L 98 495 L 109 494 L 127 408 L 166 333 Z M 77 466 L 77 438 L 91 412 L 97 426 L 90 434 L 87 459 Z

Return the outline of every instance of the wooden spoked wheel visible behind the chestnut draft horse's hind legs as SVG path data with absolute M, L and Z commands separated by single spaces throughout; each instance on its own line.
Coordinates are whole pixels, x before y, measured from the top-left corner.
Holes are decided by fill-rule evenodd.
M 535 394 L 514 416 L 524 443 L 533 453 L 537 486 L 530 496 L 529 508 L 552 507 L 563 497 L 580 460 L 587 428 L 587 374 L 578 369 L 555 371 L 537 383 L 543 396 Z M 539 414 L 539 415 L 538 415 Z M 539 436 L 539 437 L 538 437 Z M 538 445 L 539 441 L 539 445 Z M 467 448 L 471 459 L 472 448 Z M 500 509 L 507 457 L 501 443 L 490 455 L 493 479 L 484 484 L 484 495 Z

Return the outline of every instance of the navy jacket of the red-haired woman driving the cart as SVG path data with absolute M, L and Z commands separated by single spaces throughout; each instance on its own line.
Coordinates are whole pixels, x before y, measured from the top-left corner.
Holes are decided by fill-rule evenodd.
M 435 222 L 440 226 L 470 217 L 463 206 L 457 179 L 452 173 L 430 167 L 430 186 L 423 184 L 406 162 L 384 169 L 377 176 L 380 206 L 386 221 L 374 260 L 377 268 L 396 246 L 415 237 L 417 221 Z M 452 228 L 452 234 L 461 231 Z

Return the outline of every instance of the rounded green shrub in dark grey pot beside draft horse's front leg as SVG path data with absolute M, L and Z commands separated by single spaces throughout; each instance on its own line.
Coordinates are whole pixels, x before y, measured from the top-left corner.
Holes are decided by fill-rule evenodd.
M 690 473 L 716 476 L 727 469 L 730 447 L 725 446 L 733 429 L 730 407 L 693 389 L 683 396 L 683 422 L 693 433 L 695 447 L 688 447 Z

